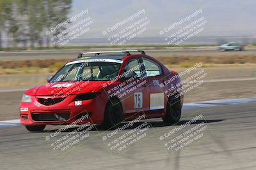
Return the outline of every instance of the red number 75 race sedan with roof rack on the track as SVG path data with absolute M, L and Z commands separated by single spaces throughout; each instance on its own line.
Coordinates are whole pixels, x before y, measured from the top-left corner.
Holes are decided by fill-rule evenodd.
M 173 123 L 182 104 L 179 74 L 144 51 L 88 52 L 23 94 L 20 123 L 31 132 L 45 125 L 113 127 L 138 117 Z

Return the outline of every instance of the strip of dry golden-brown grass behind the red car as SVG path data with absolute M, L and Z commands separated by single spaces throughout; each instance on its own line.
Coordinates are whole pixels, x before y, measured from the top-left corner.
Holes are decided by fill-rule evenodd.
M 223 55 L 223 56 L 173 56 L 156 57 L 166 66 L 191 67 L 195 62 L 202 62 L 205 67 L 216 67 L 230 64 L 256 64 L 255 55 Z M 63 66 L 68 59 L 45 59 L 45 60 L 15 60 L 0 62 L 0 74 L 20 74 L 20 73 L 54 73 Z

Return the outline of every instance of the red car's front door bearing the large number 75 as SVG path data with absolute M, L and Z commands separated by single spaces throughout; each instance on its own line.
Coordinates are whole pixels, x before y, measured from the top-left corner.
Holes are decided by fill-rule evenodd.
M 125 64 L 124 69 L 122 73 L 131 71 L 136 73 L 137 76 L 132 81 L 125 81 L 126 85 L 122 88 L 125 89 L 127 93 L 125 96 L 122 97 L 122 106 L 124 110 L 124 115 L 131 116 L 134 113 L 138 113 L 141 110 L 147 111 L 149 110 L 149 91 L 150 87 L 147 86 L 147 83 L 145 81 L 145 77 L 141 68 L 141 61 L 140 59 L 131 59 L 127 61 L 127 64 Z M 132 82 L 132 85 L 129 85 L 129 83 Z M 135 83 L 134 83 L 135 82 Z M 126 87 L 125 87 L 126 86 Z M 132 86 L 132 87 L 130 87 Z M 133 89 L 131 91 L 131 89 Z

